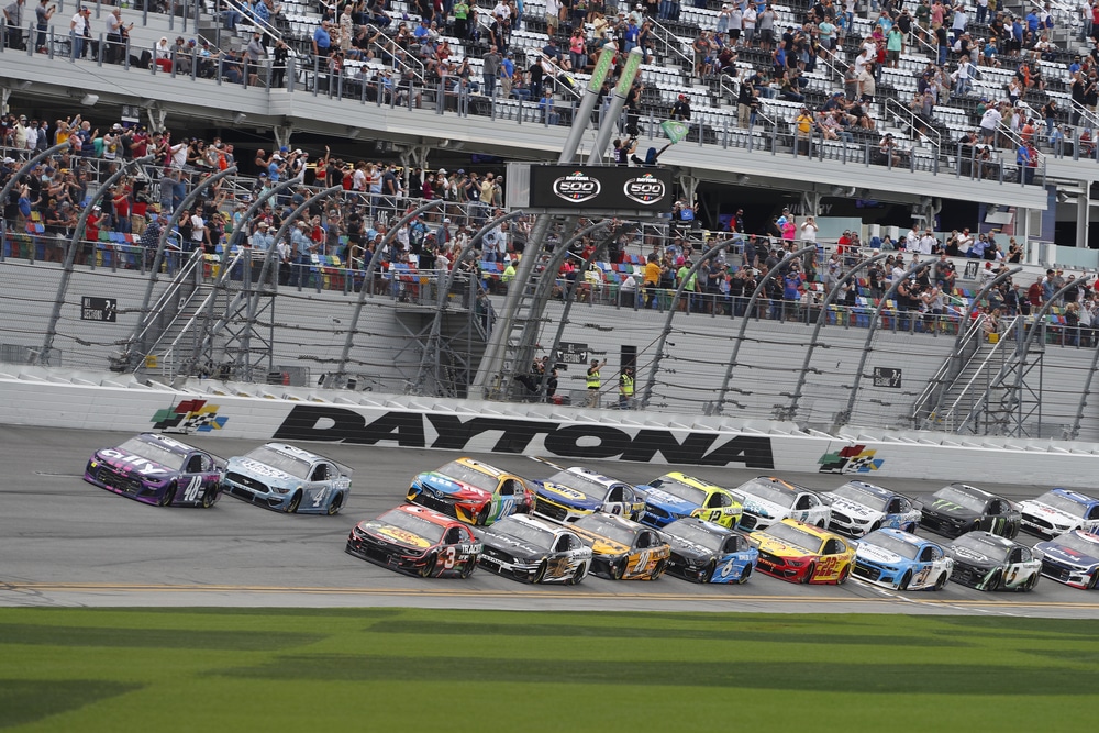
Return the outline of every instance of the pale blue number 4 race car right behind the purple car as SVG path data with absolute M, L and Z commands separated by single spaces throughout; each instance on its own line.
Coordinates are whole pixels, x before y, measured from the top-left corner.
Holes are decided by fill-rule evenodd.
M 231 497 L 288 514 L 335 514 L 351 493 L 351 468 L 285 443 L 229 459 L 221 486 Z

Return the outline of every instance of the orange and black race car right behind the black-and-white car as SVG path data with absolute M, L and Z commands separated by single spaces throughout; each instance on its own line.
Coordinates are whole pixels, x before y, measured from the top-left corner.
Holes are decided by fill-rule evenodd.
M 668 567 L 671 548 L 643 524 L 602 512 L 573 522 L 571 530 L 591 547 L 591 573 L 612 580 L 656 580 Z

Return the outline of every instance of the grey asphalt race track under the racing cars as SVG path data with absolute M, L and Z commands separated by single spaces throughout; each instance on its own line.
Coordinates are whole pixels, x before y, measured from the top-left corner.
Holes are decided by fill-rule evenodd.
M 414 473 L 442 465 L 451 454 L 303 446 L 355 469 L 351 500 L 336 517 L 287 515 L 227 496 L 210 510 L 162 509 L 86 484 L 81 476 L 92 452 L 126 437 L 107 431 L 0 426 L 0 606 L 1099 615 L 1099 595 L 1048 578 L 1030 593 L 988 593 L 955 584 L 940 592 L 899 593 L 854 579 L 842 587 L 798 586 L 763 574 L 744 586 L 700 586 L 666 576 L 655 582 L 589 577 L 579 587 L 540 587 L 484 568 L 468 580 L 406 577 L 347 555 L 344 543 L 357 521 L 400 503 Z M 184 440 L 226 458 L 255 445 L 215 436 Z M 533 478 L 548 473 L 523 456 L 480 457 Z M 667 469 L 620 462 L 587 465 L 632 482 L 645 482 Z M 734 468 L 685 470 L 728 487 L 758 474 Z M 834 475 L 784 477 L 814 488 L 843 481 Z M 980 467 L 974 466 L 973 475 L 958 480 L 980 485 Z M 918 479 L 881 482 L 910 495 L 939 488 Z M 985 488 L 1019 500 L 1050 487 Z M 1035 538 L 1021 534 L 1020 541 L 1033 544 Z

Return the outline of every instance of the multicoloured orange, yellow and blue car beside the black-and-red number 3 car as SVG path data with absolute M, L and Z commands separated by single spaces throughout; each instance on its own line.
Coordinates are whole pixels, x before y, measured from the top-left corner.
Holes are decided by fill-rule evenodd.
M 458 458 L 413 478 L 408 500 L 467 524 L 486 525 L 531 511 L 534 491 L 519 476 L 473 458 Z

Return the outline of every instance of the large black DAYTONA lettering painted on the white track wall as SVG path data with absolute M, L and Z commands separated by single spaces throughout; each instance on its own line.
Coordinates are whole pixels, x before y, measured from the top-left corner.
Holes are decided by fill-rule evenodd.
M 775 467 L 770 438 L 762 435 L 726 437 L 719 433 L 687 433 L 680 438 L 670 430 L 510 418 L 464 420 L 453 414 L 403 411 L 387 412 L 367 422 L 365 415 L 354 410 L 313 404 L 295 406 L 273 438 L 509 454 L 531 453 L 537 438 L 541 446 L 535 445 L 536 448 L 564 458 L 650 463 L 659 453 L 671 464 Z

